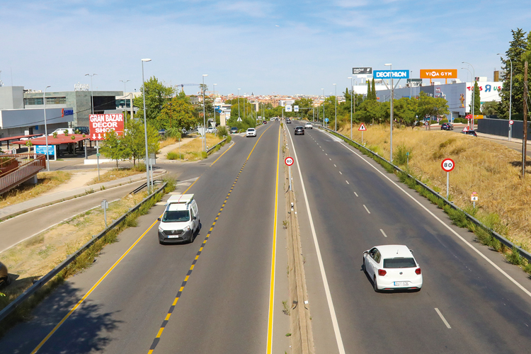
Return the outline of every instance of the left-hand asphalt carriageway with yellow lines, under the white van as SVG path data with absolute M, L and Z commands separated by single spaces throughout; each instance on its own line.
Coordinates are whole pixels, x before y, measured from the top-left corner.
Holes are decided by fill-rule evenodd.
M 120 236 L 122 241 L 105 248 L 92 268 L 46 299 L 33 321 L 8 333 L 0 343 L 2 348 L 29 353 L 38 346 L 137 241 L 139 234 L 149 229 L 38 351 L 147 353 L 202 246 L 201 241 L 249 156 L 155 353 L 265 351 L 278 144 L 278 126 L 270 127 L 251 156 L 249 153 L 258 139 L 236 139 L 232 149 L 190 185 L 188 193 L 194 193 L 198 200 L 202 222 L 194 244 L 159 245 L 156 226 L 149 227 L 156 225 L 154 220 L 164 207 L 154 207 L 149 215 L 139 219 L 138 228 L 127 229 Z M 256 197 L 249 193 L 256 193 Z M 283 337 L 289 325 L 282 330 Z M 285 341 L 285 337 L 282 339 Z M 288 345 L 285 347 L 289 350 Z

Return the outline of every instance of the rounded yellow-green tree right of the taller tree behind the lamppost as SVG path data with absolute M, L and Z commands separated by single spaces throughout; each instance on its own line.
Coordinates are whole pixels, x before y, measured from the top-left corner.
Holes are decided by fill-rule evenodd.
M 180 130 L 190 130 L 198 125 L 199 120 L 195 116 L 195 108 L 181 95 L 171 98 L 156 118 L 156 127 L 159 129 L 177 127 Z

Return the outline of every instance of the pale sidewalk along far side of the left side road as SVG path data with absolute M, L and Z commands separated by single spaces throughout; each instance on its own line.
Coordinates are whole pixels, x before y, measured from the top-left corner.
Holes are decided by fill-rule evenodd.
M 156 169 L 153 171 L 155 178 L 164 175 L 164 173 L 166 173 L 166 170 L 163 169 Z M 16 215 L 38 209 L 39 207 L 45 207 L 47 205 L 55 204 L 56 202 L 62 202 L 63 200 L 69 200 L 87 193 L 92 193 L 96 190 L 101 190 L 102 187 L 105 189 L 118 187 L 119 185 L 142 181 L 145 178 L 146 174 L 142 173 L 140 175 L 124 177 L 115 181 L 96 183 L 93 185 L 84 185 L 84 180 L 80 179 L 78 186 L 75 188 L 69 190 L 60 190 L 59 192 L 56 191 L 55 193 L 49 193 L 47 195 L 41 195 L 40 197 L 33 198 L 25 202 L 19 202 L 15 205 L 1 208 L 0 222 L 10 217 L 15 217 Z M 74 185 L 71 185 L 71 187 L 74 187 Z

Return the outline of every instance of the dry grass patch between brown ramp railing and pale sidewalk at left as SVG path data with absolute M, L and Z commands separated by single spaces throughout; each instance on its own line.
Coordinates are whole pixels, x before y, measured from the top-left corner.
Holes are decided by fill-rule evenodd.
M 19 202 L 25 202 L 50 192 L 53 188 L 67 183 L 72 174 L 64 171 L 40 172 L 37 174 L 38 182 L 35 185 L 19 185 L 3 195 L 0 195 L 0 208 Z

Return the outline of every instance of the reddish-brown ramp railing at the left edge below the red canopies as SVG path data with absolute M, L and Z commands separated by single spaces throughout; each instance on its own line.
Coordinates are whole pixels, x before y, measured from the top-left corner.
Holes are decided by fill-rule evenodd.
M 30 159 L 24 159 L 24 158 Z M 46 156 L 35 154 L 16 154 L 16 155 L 2 155 L 2 159 L 8 158 L 0 164 L 1 166 L 8 166 L 8 164 L 16 163 L 17 166 L 4 173 L 0 173 L 0 194 L 4 193 L 14 186 L 24 182 L 31 176 L 38 173 L 40 170 L 46 168 Z

